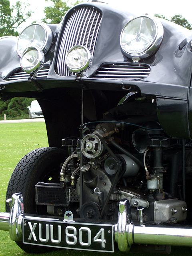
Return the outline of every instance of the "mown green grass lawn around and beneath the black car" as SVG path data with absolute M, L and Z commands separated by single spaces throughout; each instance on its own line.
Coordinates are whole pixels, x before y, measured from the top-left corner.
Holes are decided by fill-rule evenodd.
M 36 148 L 48 146 L 46 127 L 44 122 L 0 124 L 0 212 L 5 211 L 5 196 L 8 181 L 16 164 L 20 159 Z M 173 247 L 171 256 L 191 255 L 191 248 Z M 59 250 L 41 254 L 42 256 L 124 256 L 127 252 L 116 251 L 114 254 Z M 27 254 L 13 242 L 9 233 L 0 230 L 0 256 L 34 256 L 37 254 Z M 154 256 L 159 254 L 148 254 L 144 252 L 130 252 L 130 256 Z

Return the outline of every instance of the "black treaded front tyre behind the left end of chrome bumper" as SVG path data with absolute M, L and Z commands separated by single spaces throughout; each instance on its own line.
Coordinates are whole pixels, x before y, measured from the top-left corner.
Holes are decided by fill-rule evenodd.
M 60 165 L 68 157 L 68 153 L 60 148 L 38 148 L 26 154 L 14 169 L 8 183 L 6 200 L 12 194 L 21 192 L 24 201 L 24 213 L 46 214 L 42 208 L 35 204 L 35 185 L 38 182 L 58 183 L 60 178 Z M 51 180 L 50 180 L 51 178 Z M 6 203 L 6 212 L 10 207 Z M 53 250 L 45 246 L 33 246 L 16 242 L 25 252 L 41 253 Z

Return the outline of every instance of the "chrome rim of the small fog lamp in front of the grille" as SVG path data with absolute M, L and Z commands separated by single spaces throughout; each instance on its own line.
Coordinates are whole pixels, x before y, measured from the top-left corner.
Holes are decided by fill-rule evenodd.
M 73 52 L 74 50 L 78 50 L 79 48 L 82 48 L 86 54 L 87 54 L 87 57 L 86 57 L 86 62 L 78 67 L 78 68 L 72 68 L 69 61 L 68 61 L 68 58 L 69 58 L 69 55 L 71 54 L 71 52 Z M 76 60 L 77 58 L 75 57 L 75 54 L 74 54 L 74 60 Z M 80 44 L 77 44 L 75 46 L 72 46 L 72 48 L 70 48 L 67 52 L 67 55 L 66 55 L 66 65 L 67 65 L 67 68 L 73 72 L 73 73 L 83 73 L 85 72 L 86 70 L 88 70 L 91 66 L 91 63 L 92 63 L 92 53 L 90 52 L 90 50 L 88 48 L 86 48 L 85 46 L 83 45 L 80 45 Z

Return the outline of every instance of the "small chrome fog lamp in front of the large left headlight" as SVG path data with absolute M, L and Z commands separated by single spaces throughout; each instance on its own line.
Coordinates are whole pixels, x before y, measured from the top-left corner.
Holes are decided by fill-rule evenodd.
M 26 73 L 35 73 L 42 67 L 44 60 L 44 53 L 40 49 L 31 46 L 21 56 L 21 68 Z

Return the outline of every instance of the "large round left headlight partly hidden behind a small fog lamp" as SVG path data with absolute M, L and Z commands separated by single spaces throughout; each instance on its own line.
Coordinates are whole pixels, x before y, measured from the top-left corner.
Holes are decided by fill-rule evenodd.
M 17 53 L 22 55 L 24 50 L 30 46 L 39 48 L 46 53 L 52 44 L 52 31 L 46 24 L 32 24 L 26 27 L 18 37 Z

